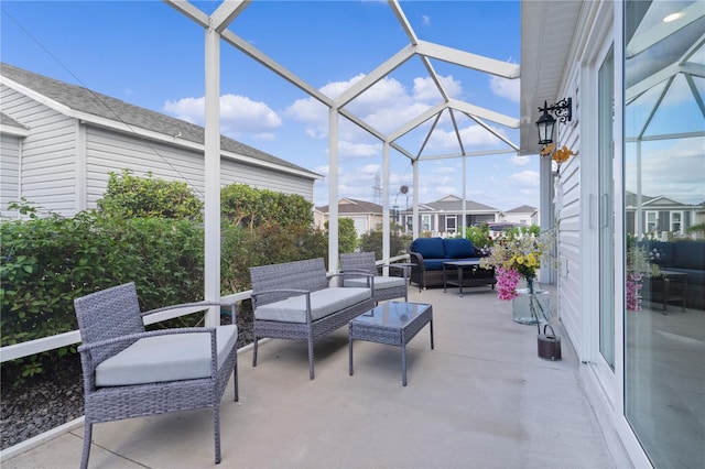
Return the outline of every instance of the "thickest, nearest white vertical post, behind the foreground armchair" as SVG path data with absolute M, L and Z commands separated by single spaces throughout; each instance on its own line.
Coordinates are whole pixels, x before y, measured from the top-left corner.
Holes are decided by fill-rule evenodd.
M 210 20 L 213 21 L 213 20 Z M 220 301 L 220 34 L 206 29 L 205 63 L 205 299 Z M 206 326 L 219 324 L 220 312 L 206 313 Z

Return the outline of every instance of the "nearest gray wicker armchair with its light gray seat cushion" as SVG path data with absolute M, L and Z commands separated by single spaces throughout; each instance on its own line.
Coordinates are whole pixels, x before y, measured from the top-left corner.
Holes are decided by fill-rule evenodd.
M 212 407 L 216 463 L 220 462 L 220 400 L 232 372 L 238 400 L 237 326 L 145 331 L 134 283 L 76 298 L 85 428 L 80 467 L 88 467 L 93 424 Z M 235 305 L 231 305 L 235 317 Z

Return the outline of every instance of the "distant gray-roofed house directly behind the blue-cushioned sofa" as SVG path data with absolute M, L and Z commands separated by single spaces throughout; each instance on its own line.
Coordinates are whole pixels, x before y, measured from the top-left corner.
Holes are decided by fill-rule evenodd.
M 412 209 L 401 212 L 401 225 L 410 226 Z M 473 200 L 465 201 L 465 226 L 500 221 L 501 210 Z M 432 236 L 456 236 L 463 230 L 463 198 L 454 195 L 419 204 L 419 231 Z

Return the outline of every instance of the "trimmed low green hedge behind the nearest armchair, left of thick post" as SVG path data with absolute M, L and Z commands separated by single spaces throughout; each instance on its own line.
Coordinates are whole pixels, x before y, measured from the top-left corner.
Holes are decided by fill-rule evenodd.
M 143 310 L 202 297 L 203 228 L 188 220 L 51 215 L 2 220 L 1 241 L 2 346 L 77 329 L 74 298 L 130 281 Z M 26 378 L 55 360 L 42 353 L 3 372 Z

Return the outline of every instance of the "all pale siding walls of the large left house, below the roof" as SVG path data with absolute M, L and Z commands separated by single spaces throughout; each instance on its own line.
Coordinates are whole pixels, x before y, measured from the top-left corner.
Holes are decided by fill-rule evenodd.
M 20 197 L 25 197 L 42 211 L 64 216 L 96 208 L 107 187 L 109 173 L 120 174 L 123 168 L 138 176 L 151 172 L 155 178 L 185 181 L 198 197 L 205 197 L 203 151 L 79 123 L 62 113 L 61 108 L 54 110 L 4 85 L 0 95 L 3 113 L 29 129 L 21 146 L 14 145 L 14 156 L 6 157 L 3 150 L 2 210 L 9 199 Z M 221 157 L 221 185 L 247 184 L 301 195 L 313 203 L 313 177 L 250 164 L 238 157 Z

